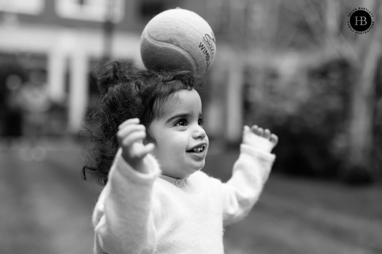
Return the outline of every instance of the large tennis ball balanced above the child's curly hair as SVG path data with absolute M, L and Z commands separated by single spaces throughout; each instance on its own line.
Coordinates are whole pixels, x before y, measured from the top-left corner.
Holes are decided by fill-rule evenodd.
M 211 27 L 193 11 L 176 8 L 152 18 L 141 35 L 141 57 L 147 69 L 207 72 L 216 54 Z

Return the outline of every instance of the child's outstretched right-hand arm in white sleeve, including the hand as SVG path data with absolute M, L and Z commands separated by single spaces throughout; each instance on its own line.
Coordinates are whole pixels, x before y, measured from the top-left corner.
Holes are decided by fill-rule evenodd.
M 278 137 L 268 129 L 244 126 L 240 156 L 231 179 L 222 184 L 224 225 L 242 219 L 259 199 L 275 160 L 270 152 L 277 142 Z

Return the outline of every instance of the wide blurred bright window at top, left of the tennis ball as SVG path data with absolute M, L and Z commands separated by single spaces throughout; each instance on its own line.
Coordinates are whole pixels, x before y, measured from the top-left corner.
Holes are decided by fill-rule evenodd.
M 125 0 L 56 0 L 55 3 L 58 16 L 66 19 L 104 22 L 110 18 L 118 23 L 125 16 Z

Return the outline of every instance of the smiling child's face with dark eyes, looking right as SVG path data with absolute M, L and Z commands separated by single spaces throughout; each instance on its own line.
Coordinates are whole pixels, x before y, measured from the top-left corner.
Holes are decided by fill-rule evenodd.
M 152 155 L 157 158 L 162 174 L 175 178 L 189 176 L 204 167 L 208 137 L 201 126 L 202 102 L 193 89 L 181 90 L 179 99 L 172 96 L 165 103 L 168 109 L 149 127 L 157 145 Z M 202 151 L 190 151 L 204 146 Z

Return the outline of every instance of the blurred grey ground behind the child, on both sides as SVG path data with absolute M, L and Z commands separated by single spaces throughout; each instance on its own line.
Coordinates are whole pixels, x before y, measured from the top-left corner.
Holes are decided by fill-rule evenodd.
M 91 214 L 101 189 L 81 179 L 79 146 L 49 140 L 45 159 L 29 161 L 23 145 L 0 145 L 0 253 L 92 253 Z M 204 171 L 226 181 L 237 156 L 211 151 Z M 227 254 L 382 253 L 382 188 L 272 174 L 249 216 L 226 229 L 225 248 Z

